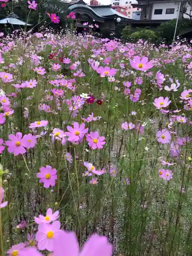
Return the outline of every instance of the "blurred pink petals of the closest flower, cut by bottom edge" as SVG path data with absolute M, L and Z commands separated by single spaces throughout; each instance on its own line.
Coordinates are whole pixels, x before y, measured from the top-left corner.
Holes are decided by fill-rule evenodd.
M 110 256 L 112 248 L 107 238 L 93 234 L 79 251 L 75 233 L 65 231 L 59 233 L 53 244 L 53 251 L 56 256 Z

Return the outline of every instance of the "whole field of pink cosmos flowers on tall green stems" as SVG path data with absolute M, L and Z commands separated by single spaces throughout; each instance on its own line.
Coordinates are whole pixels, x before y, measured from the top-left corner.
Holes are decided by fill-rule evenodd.
M 191 255 L 191 46 L 0 48 L 2 255 Z

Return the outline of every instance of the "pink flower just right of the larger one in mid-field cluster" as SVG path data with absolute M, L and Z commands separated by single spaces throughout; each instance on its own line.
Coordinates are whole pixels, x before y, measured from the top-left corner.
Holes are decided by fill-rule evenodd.
M 103 141 L 105 140 L 105 137 L 99 137 L 99 132 L 91 132 L 86 136 L 86 139 L 92 150 L 96 150 L 97 148 L 103 148 L 103 145 L 105 144 L 105 141 Z

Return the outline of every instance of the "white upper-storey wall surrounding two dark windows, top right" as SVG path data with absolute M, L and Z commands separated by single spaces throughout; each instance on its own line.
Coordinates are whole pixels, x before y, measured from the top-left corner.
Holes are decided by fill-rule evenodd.
M 166 9 L 175 8 L 174 14 L 165 14 Z M 152 19 L 174 19 L 178 15 L 179 3 L 159 3 L 153 4 Z M 163 9 L 162 14 L 154 14 L 155 9 Z

